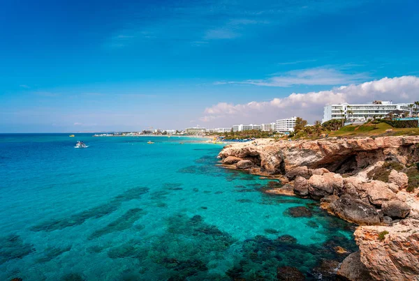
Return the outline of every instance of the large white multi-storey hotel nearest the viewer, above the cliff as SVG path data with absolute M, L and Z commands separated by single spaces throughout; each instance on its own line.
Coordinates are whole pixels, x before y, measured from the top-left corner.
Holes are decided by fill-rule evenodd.
M 375 100 L 366 104 L 341 103 L 326 105 L 322 122 L 332 119 L 347 119 L 349 121 L 367 121 L 368 119 L 384 118 L 385 115 L 395 110 L 409 112 L 406 103 L 392 103 L 392 101 Z

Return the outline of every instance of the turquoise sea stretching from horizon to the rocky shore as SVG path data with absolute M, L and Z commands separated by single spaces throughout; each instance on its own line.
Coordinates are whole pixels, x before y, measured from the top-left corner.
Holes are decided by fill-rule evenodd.
M 216 166 L 221 145 L 75 135 L 0 135 L 0 280 L 316 280 L 336 246 L 357 250 L 318 202 Z

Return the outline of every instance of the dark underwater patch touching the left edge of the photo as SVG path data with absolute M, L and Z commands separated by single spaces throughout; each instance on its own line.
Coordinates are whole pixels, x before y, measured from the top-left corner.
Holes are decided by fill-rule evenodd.
M 22 259 L 31 252 L 35 252 L 34 245 L 24 243 L 16 234 L 0 237 L 0 247 L 0 264 L 11 259 Z

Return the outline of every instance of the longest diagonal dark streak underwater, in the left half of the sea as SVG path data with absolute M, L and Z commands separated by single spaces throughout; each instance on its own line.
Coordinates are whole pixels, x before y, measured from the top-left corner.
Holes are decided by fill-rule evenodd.
M 74 225 L 81 225 L 83 222 L 89 220 L 90 218 L 102 218 L 105 215 L 117 211 L 123 202 L 139 199 L 141 195 L 147 193 L 148 191 L 148 188 L 132 188 L 126 190 L 124 193 L 122 193 L 122 195 L 114 197 L 107 204 L 89 208 L 86 211 L 75 213 L 68 216 L 67 218 L 41 222 L 41 224 L 31 227 L 31 231 L 54 231 L 58 229 L 64 229 L 66 227 L 73 227 Z

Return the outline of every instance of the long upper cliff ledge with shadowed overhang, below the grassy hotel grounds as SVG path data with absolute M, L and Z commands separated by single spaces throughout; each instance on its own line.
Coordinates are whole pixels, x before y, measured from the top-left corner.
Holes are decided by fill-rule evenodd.
M 302 142 L 256 139 L 254 143 L 226 146 L 219 153 L 219 157 L 254 159 L 253 162 L 268 174 L 285 174 L 286 171 L 300 166 L 307 166 L 309 169 L 325 167 L 335 172 L 340 170 L 344 163 L 348 167 L 355 165 L 357 169 L 363 169 L 385 158 L 405 158 L 411 155 L 409 149 L 413 149 L 416 144 L 419 144 L 419 136 L 318 139 Z M 401 147 L 404 149 L 399 149 Z

